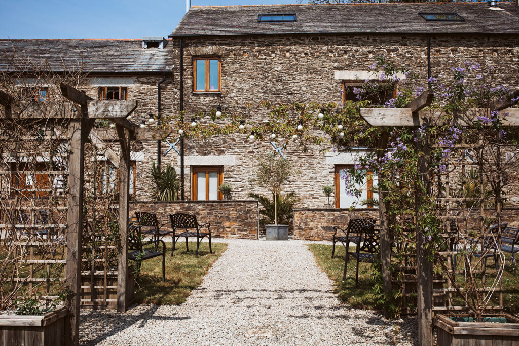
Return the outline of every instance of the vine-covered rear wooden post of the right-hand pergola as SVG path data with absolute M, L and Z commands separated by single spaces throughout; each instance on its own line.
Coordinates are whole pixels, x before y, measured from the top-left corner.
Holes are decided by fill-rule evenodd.
M 389 139 L 389 131 L 387 129 L 382 130 L 382 134 L 380 135 L 380 140 L 377 145 L 377 158 L 383 157 L 386 154 L 386 149 L 388 147 L 388 139 Z M 385 175 L 379 174 L 379 181 L 384 181 L 386 178 Z M 388 232 L 388 218 L 386 215 L 388 205 L 384 201 L 385 198 L 384 188 L 378 191 L 378 224 L 380 228 L 380 259 L 382 261 L 382 279 L 384 281 L 384 293 L 387 297 L 391 296 L 391 271 L 389 270 L 391 266 L 391 239 L 389 237 Z M 389 310 L 384 308 L 384 317 L 389 319 L 390 313 Z

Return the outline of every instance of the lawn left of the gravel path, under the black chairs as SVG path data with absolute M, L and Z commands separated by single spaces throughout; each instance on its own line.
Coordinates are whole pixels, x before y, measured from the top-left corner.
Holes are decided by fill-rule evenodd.
M 179 241 L 175 255 L 171 257 L 171 242 L 166 242 L 166 282 L 162 282 L 162 257 L 143 261 L 139 283 L 135 287 L 137 303 L 183 303 L 227 248 L 225 243 L 212 243 L 213 254 L 210 254 L 209 243 L 204 240 L 198 258 L 195 258 L 196 242 L 189 242 L 189 252 L 186 252 L 185 245 L 185 242 Z

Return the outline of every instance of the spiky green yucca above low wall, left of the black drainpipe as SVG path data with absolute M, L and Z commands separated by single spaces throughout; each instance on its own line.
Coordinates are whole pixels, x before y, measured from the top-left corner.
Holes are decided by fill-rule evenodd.
M 171 164 L 167 164 L 165 169 L 156 166 L 152 161 L 152 167 L 149 169 L 149 175 L 152 176 L 155 186 L 153 188 L 154 198 L 159 201 L 176 201 L 179 200 L 182 183 L 180 177 L 176 175 L 176 171 Z

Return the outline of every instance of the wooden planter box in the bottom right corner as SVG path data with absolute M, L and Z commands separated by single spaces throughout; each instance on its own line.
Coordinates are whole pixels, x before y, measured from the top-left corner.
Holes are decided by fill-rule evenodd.
M 496 322 L 456 322 L 447 315 L 436 315 L 433 323 L 438 332 L 438 346 L 476 344 L 519 346 L 517 317 L 509 314 L 485 317 Z

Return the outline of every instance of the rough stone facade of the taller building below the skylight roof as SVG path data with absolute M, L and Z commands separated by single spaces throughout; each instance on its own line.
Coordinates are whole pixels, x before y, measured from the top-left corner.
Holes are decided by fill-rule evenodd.
M 186 114 L 210 112 L 221 105 L 224 113 L 250 122 L 268 119 L 268 109 L 250 108 L 260 101 L 342 101 L 342 80 L 336 72 L 368 71 L 381 54 L 404 64 L 420 75 L 418 86 L 427 87 L 427 36 L 424 35 L 305 35 L 247 37 L 184 37 L 184 98 Z M 431 38 L 432 76 L 446 77 L 452 67 L 467 61 L 483 68 L 494 66 L 498 78 L 519 86 L 519 38 L 516 36 L 436 35 Z M 193 92 L 193 56 L 204 47 L 221 54 L 222 91 Z M 217 48 L 217 49 L 216 49 Z M 210 122 L 200 119 L 201 122 Z M 278 141 L 278 145 L 285 140 Z M 224 182 L 234 187 L 234 198 L 245 199 L 251 191 L 248 177 L 258 156 L 274 150 L 268 140 L 251 141 L 248 133 L 215 136 L 207 141 L 185 140 L 185 187 L 190 198 L 190 168 L 196 164 L 223 165 Z M 329 150 L 323 154 L 322 150 Z M 302 146 L 288 140 L 283 153 L 296 169 L 286 191 L 302 196 L 299 208 L 323 207 L 323 185 L 334 185 L 335 164 L 353 161 L 351 154 L 336 155 L 332 147 Z M 168 158 L 178 169 L 179 158 Z M 198 162 L 198 163 L 197 163 Z M 202 163 L 203 162 L 203 163 Z M 223 162 L 223 163 L 222 163 Z M 254 192 L 264 193 L 256 189 Z M 333 200 L 333 197 L 332 197 Z M 512 199 L 510 199 L 512 200 Z

